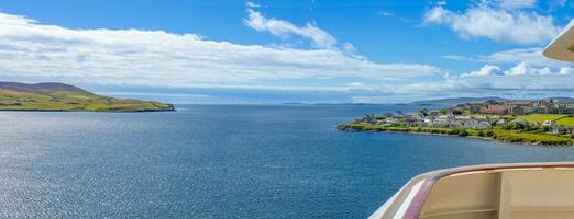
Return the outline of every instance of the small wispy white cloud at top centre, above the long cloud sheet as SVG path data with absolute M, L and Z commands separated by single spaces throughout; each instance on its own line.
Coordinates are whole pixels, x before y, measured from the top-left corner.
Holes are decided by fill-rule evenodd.
M 282 37 L 283 39 L 289 38 L 291 35 L 297 35 L 311 41 L 312 45 L 318 48 L 334 48 L 336 39 L 325 31 L 317 27 L 312 23 L 307 23 L 305 26 L 296 26 L 287 21 L 277 19 L 267 19 L 258 11 L 247 9 L 247 19 L 243 20 L 243 23 L 260 32 L 269 32 L 271 34 Z

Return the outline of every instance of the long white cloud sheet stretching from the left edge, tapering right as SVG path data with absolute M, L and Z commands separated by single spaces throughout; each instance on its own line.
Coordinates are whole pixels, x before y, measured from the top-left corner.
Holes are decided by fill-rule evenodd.
M 269 80 L 397 80 L 439 70 L 426 65 L 377 64 L 338 49 L 238 45 L 163 31 L 74 30 L 0 13 L 0 77 L 4 79 L 257 88 Z

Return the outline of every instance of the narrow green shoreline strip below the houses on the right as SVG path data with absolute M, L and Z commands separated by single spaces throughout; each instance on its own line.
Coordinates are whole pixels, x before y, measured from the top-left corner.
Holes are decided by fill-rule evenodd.
M 339 125 L 336 131 L 368 131 L 368 132 L 406 132 L 412 135 L 429 135 L 443 137 L 463 137 L 481 140 L 499 141 L 517 143 L 522 146 L 541 146 L 541 147 L 572 147 L 574 139 L 549 135 L 549 134 L 531 134 L 517 132 L 505 129 L 454 129 L 454 128 L 437 128 L 437 127 L 398 127 L 398 126 L 379 126 L 363 123 L 347 123 Z

